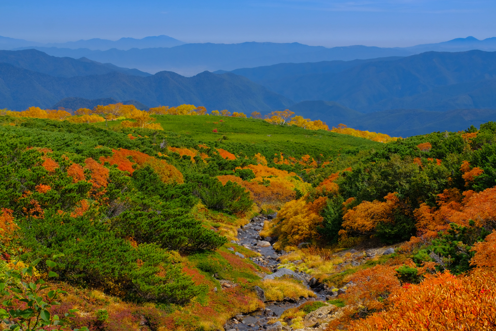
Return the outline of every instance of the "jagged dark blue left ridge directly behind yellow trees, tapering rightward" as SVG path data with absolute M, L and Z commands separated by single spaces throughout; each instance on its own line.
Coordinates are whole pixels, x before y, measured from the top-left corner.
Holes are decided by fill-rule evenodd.
M 159 72 L 139 77 L 120 72 L 101 75 L 53 77 L 0 63 L 2 108 L 23 110 L 33 105 L 52 107 L 63 98 L 114 98 L 137 100 L 148 107 L 192 103 L 210 110 L 229 109 L 267 112 L 293 102 L 268 91 L 247 78 L 232 73 L 203 72 L 184 77 L 174 72 Z

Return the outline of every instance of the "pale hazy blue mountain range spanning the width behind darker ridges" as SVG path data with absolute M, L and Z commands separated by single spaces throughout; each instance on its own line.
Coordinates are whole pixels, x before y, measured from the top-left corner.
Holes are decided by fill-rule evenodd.
M 145 39 L 147 38 L 141 39 L 140 42 Z M 120 41 L 114 43 L 118 42 Z M 18 44 L 18 42 L 16 43 Z M 90 41 L 84 41 L 84 43 L 90 43 Z M 100 63 L 112 63 L 116 66 L 137 68 L 150 73 L 167 70 L 186 76 L 192 76 L 205 70 L 234 70 L 244 67 L 270 66 L 279 63 L 407 57 L 426 51 L 460 52 L 473 49 L 496 51 L 496 38 L 477 40 L 473 37 L 407 48 L 380 48 L 360 45 L 325 48 L 299 43 L 278 44 L 256 42 L 241 44 L 184 44 L 174 47 L 136 47 L 127 50 L 124 50 L 126 47 L 122 47 L 122 49 L 108 49 L 103 46 L 99 50 L 96 50 L 94 47 L 98 45 L 97 42 L 91 42 L 92 48 L 89 46 L 85 48 L 74 46 L 85 45 L 84 43 L 80 41 L 57 45 L 44 44 L 19 47 L 23 49 L 35 48 L 57 57 L 71 57 L 74 59 L 86 57 Z M 146 45 L 146 43 L 142 44 Z

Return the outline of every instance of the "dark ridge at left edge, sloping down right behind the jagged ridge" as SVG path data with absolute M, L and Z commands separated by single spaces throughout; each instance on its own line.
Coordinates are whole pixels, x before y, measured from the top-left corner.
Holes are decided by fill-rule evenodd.
M 101 64 L 86 58 L 78 60 L 58 58 L 33 49 L 0 51 L 0 63 L 6 63 L 56 77 L 88 76 L 114 71 L 135 76 L 151 76 L 151 74 L 137 69 L 121 68 L 110 63 Z

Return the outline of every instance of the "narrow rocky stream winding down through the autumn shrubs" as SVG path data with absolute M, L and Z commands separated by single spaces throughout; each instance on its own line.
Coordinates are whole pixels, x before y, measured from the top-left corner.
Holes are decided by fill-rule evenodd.
M 271 217 L 270 215 L 269 217 Z M 257 252 L 261 254 L 260 258 L 252 258 L 251 260 L 257 265 L 265 266 L 269 268 L 272 272 L 276 272 L 278 270 L 278 266 L 280 263 L 277 261 L 277 258 L 284 255 L 284 252 L 280 252 L 279 254 L 272 248 L 272 245 L 267 246 L 258 246 L 258 244 L 263 245 L 264 243 L 260 243 L 262 240 L 260 238 L 260 231 L 263 228 L 263 224 L 267 221 L 267 217 L 265 216 L 256 216 L 253 217 L 248 224 L 246 224 L 243 228 L 238 229 L 238 241 L 235 242 L 240 246 L 244 246 L 253 252 Z M 268 239 L 268 238 L 267 238 Z M 264 239 L 265 240 L 265 239 Z M 261 260 L 261 261 L 257 261 Z M 296 272 L 297 276 L 300 276 L 303 279 L 303 284 L 310 289 L 309 281 L 312 278 L 308 273 L 303 271 Z M 284 311 L 287 309 L 298 307 L 301 304 L 307 301 L 325 301 L 325 293 L 321 291 L 321 288 L 312 289 L 316 295 L 316 298 L 303 298 L 301 300 L 295 301 L 291 299 L 286 299 L 281 302 L 265 302 L 265 309 L 255 311 L 249 315 L 237 315 L 234 319 L 229 320 L 224 326 L 225 330 L 237 330 L 237 331 L 251 331 L 251 330 L 272 330 L 272 328 L 265 329 L 264 326 L 275 318 L 280 317 Z M 281 329 L 274 329 L 281 330 Z

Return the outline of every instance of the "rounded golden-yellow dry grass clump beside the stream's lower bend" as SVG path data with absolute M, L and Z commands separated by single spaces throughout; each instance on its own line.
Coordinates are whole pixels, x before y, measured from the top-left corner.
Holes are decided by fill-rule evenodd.
M 282 301 L 285 297 L 293 299 L 315 297 L 315 293 L 300 281 L 289 278 L 267 279 L 262 281 L 262 287 L 268 301 Z

